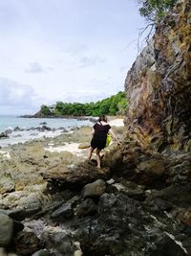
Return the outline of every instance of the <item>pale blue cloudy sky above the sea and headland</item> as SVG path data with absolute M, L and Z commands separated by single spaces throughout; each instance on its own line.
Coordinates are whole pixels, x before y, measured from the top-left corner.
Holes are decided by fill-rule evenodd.
M 0 0 L 0 114 L 123 91 L 143 24 L 137 0 Z

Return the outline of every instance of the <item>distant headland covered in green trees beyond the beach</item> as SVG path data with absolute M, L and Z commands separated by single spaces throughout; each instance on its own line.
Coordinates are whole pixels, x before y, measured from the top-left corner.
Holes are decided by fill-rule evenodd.
M 99 116 L 105 115 L 124 115 L 127 107 L 127 100 L 124 92 L 118 92 L 102 101 L 96 103 L 62 103 L 55 105 L 41 105 L 40 111 L 35 116 Z

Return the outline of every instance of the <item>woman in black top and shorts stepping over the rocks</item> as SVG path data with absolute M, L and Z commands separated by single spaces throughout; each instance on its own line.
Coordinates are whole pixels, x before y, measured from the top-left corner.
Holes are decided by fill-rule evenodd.
M 120 142 L 118 141 L 115 132 L 107 123 L 107 117 L 105 115 L 102 115 L 98 118 L 98 122 L 96 122 L 96 124 L 93 127 L 93 138 L 91 140 L 91 147 L 88 152 L 88 159 L 90 160 L 93 152 L 96 150 L 97 168 L 101 168 L 100 151 L 106 147 L 106 139 L 108 133 L 111 134 L 114 140 L 117 141 L 117 144 L 120 145 Z

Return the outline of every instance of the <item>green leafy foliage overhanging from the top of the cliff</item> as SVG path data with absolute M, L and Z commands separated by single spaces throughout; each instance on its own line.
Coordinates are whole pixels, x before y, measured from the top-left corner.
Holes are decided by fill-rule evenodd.
M 138 0 L 138 3 L 140 15 L 155 23 L 175 6 L 177 0 Z

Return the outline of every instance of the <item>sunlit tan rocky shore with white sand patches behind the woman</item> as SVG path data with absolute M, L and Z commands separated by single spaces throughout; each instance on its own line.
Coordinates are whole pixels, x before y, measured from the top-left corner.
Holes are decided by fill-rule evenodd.
M 111 120 L 117 136 L 123 135 L 122 120 Z M 109 122 L 110 123 L 110 122 Z M 0 208 L 22 206 L 22 198 L 39 193 L 46 185 L 40 175 L 57 166 L 60 170 L 87 159 L 92 126 L 74 128 L 54 137 L 37 138 L 9 145 L 0 150 Z M 80 145 L 85 145 L 79 149 Z M 114 144 L 115 145 L 115 144 Z M 113 145 L 109 146 L 113 147 Z M 110 151 L 110 148 L 103 151 Z M 95 155 L 93 155 L 93 159 Z M 29 178 L 30 176 L 30 178 Z M 5 197 L 4 197 L 5 195 Z

